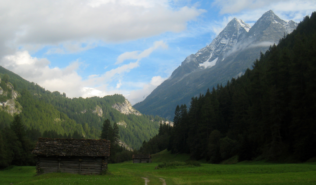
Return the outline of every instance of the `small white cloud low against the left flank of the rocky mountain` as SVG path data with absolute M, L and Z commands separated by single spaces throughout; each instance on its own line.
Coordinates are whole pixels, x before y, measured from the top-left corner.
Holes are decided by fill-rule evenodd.
M 167 78 L 161 76 L 154 76 L 149 83 L 143 84 L 142 89 L 132 90 L 127 97 L 131 104 L 143 101 L 157 86 L 159 86 Z

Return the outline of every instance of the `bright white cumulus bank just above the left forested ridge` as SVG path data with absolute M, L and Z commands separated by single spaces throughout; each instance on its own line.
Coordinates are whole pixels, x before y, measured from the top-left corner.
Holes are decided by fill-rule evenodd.
M 3 57 L 0 61 L 0 65 L 19 74 L 22 78 L 36 82 L 46 90 L 65 92 L 70 98 L 103 97 L 116 93 L 114 89 L 107 87 L 107 84 L 113 80 L 111 75 L 91 75 L 84 80 L 76 72 L 82 65 L 78 61 L 70 63 L 63 69 L 50 68 L 49 64 L 46 58 L 32 57 L 28 51 L 18 51 L 14 55 Z

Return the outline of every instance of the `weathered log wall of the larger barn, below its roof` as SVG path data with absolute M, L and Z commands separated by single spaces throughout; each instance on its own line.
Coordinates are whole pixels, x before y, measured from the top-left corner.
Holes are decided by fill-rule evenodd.
M 73 174 L 100 174 L 107 168 L 107 158 L 103 157 L 64 157 L 38 156 L 38 173 L 64 172 Z

